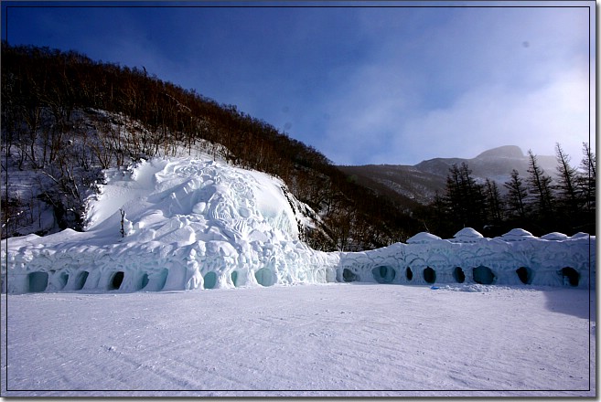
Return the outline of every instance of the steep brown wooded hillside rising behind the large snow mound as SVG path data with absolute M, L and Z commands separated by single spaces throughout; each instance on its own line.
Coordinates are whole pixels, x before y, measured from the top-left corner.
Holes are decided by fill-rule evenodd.
M 304 234 L 315 249 L 373 249 L 417 227 L 312 147 L 139 69 L 3 43 L 2 99 L 3 238 L 82 230 L 83 201 L 102 182 L 102 169 L 198 148 L 280 177 L 318 215 Z M 11 179 L 18 175 L 31 183 Z M 50 222 L 40 211 L 51 211 Z

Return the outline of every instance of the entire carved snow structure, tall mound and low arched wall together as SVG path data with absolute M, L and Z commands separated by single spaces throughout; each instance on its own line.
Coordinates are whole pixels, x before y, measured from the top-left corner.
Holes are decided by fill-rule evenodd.
M 513 229 L 420 233 L 387 248 L 325 253 L 299 238 L 308 210 L 270 175 L 209 156 L 105 172 L 85 232 L 9 238 L 2 289 L 171 291 L 368 281 L 595 286 L 596 238 Z

